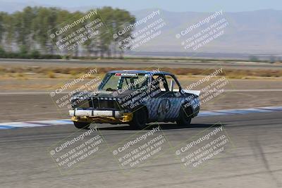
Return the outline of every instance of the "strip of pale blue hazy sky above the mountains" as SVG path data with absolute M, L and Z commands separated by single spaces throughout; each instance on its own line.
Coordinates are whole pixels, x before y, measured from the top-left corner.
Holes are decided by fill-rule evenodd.
M 112 6 L 114 8 L 125 8 L 135 11 L 145 8 L 161 8 L 166 11 L 197 11 L 210 12 L 223 9 L 228 12 L 255 11 L 259 9 L 282 10 L 281 0 L 1 0 L 19 2 L 32 6 L 35 4 L 60 6 L 60 7 L 81 7 L 81 6 Z M 1 4 L 0 1 L 0 4 Z M 1 5 L 0 5 L 1 6 Z

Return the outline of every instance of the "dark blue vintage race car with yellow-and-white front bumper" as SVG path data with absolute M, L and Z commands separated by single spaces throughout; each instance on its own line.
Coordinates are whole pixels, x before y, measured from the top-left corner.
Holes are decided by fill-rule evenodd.
M 153 122 L 190 125 L 200 111 L 199 94 L 164 71 L 114 70 L 96 91 L 73 94 L 69 114 L 79 129 L 91 123 L 127 123 L 137 129 Z

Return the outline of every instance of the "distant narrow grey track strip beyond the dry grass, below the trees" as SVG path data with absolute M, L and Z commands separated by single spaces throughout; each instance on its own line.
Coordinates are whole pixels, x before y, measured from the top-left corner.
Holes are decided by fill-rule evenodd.
M 221 66 L 226 69 L 282 69 L 282 65 L 270 63 L 198 63 L 198 62 L 173 62 L 173 61 L 80 61 L 80 60 L 35 60 L 35 59 L 4 59 L 0 58 L 0 65 L 40 65 L 40 66 L 74 66 L 74 67 L 111 67 L 111 68 L 214 68 Z

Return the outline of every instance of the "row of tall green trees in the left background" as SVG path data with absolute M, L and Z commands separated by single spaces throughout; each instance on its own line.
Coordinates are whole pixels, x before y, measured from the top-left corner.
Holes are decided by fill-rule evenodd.
M 0 12 L 0 58 L 58 58 L 59 56 L 123 56 L 124 45 L 133 29 L 124 35 L 113 37 L 114 33 L 135 23 L 135 17 L 128 11 L 103 7 L 97 14 L 85 19 L 78 27 L 82 27 L 99 18 L 104 27 L 99 27 L 99 34 L 74 49 L 59 49 L 56 41 L 75 32 L 78 27 L 68 29 L 63 35 L 50 37 L 50 31 L 60 30 L 61 25 L 73 23 L 87 13 L 70 12 L 61 8 L 45 8 L 27 6 L 23 11 L 15 13 Z

